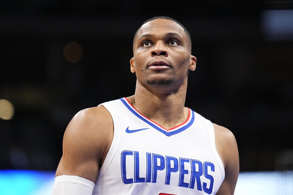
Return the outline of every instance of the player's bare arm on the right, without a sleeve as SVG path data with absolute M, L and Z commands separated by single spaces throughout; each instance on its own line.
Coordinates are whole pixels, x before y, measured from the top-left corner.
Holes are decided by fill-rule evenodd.
M 225 167 L 225 179 L 217 195 L 233 195 L 239 174 L 239 156 L 236 139 L 225 127 L 214 125 L 215 144 Z

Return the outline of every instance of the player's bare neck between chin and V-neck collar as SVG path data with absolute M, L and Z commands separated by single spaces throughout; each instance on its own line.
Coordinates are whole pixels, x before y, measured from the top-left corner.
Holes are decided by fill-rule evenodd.
M 184 107 L 187 80 L 170 94 L 154 93 L 136 82 L 135 95 L 128 97 L 134 108 L 165 129 L 171 129 L 188 117 Z

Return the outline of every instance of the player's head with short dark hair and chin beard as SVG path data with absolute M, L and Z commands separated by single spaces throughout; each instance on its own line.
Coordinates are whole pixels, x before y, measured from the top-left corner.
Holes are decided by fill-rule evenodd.
M 136 35 L 130 69 L 145 87 L 178 86 L 195 69 L 184 29 L 168 19 L 145 23 Z M 174 87 L 175 87 L 174 86 Z

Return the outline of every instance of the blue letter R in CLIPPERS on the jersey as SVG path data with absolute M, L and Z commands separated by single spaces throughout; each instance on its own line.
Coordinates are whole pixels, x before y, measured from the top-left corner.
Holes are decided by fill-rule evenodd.
M 201 178 L 203 174 L 203 168 L 202 168 L 202 163 L 201 161 L 190 159 L 190 164 L 191 164 L 191 177 L 190 177 L 190 184 L 189 188 L 194 189 L 194 184 L 195 184 L 195 179 L 196 179 L 196 185 L 197 185 L 197 190 L 202 191 L 201 189 Z M 196 166 L 198 165 L 198 171 L 196 171 Z

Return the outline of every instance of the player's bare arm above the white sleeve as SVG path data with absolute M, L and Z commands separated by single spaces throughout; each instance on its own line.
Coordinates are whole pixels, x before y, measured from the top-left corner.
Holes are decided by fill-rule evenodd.
M 79 176 L 96 183 L 113 133 L 111 115 L 103 106 L 78 112 L 65 130 L 56 176 Z

